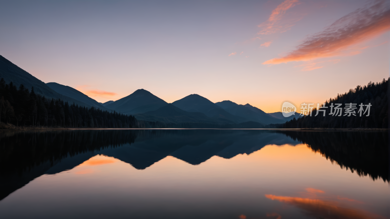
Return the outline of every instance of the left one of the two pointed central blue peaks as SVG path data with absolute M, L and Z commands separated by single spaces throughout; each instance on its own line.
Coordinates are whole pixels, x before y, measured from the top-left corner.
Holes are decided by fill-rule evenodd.
M 168 103 L 144 89 L 138 89 L 133 94 L 107 104 L 106 107 L 123 114 L 141 114 L 154 111 Z

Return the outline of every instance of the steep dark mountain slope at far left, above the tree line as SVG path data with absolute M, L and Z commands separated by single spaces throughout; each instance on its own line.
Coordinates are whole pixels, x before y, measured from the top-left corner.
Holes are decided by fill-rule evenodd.
M 19 88 L 20 84 L 23 84 L 28 90 L 31 91 L 31 87 L 34 87 L 34 92 L 40 94 L 46 98 L 61 99 L 68 101 L 69 104 L 78 104 L 81 106 L 91 107 L 91 105 L 82 101 L 75 100 L 73 98 L 64 96 L 54 91 L 52 88 L 47 86 L 43 81 L 35 78 L 28 72 L 24 71 L 11 61 L 5 59 L 0 55 L 0 78 L 5 80 L 5 83 L 12 81 L 14 85 Z

